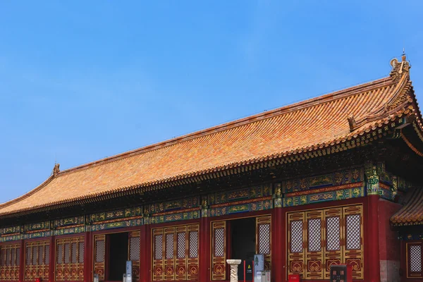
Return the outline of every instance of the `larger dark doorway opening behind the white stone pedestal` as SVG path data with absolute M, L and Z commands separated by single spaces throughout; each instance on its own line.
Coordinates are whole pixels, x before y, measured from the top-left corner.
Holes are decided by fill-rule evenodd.
M 238 280 L 244 280 L 244 260 L 251 264 L 256 250 L 256 218 L 235 219 L 230 221 L 231 258 L 242 259 L 238 266 Z M 248 270 L 248 269 L 246 269 Z M 252 269 L 251 269 L 252 270 Z M 252 272 L 246 271 L 245 280 L 252 281 Z

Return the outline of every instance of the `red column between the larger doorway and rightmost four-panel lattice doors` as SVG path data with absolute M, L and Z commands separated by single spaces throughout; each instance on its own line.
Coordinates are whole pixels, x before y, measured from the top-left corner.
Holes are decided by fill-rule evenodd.
M 286 250 L 285 250 L 285 216 L 283 216 L 283 208 L 275 207 L 272 216 L 272 262 L 271 275 L 275 282 L 283 282 L 286 277 Z

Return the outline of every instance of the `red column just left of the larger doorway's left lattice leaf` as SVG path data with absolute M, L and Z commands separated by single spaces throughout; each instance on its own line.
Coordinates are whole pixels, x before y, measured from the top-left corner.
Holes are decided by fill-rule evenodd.
M 200 276 L 199 281 L 210 281 L 210 221 L 202 217 L 200 223 Z

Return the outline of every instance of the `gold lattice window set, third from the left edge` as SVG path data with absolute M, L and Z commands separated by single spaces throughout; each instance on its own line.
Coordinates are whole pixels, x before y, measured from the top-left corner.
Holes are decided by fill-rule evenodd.
M 84 238 L 56 240 L 56 281 L 84 280 Z

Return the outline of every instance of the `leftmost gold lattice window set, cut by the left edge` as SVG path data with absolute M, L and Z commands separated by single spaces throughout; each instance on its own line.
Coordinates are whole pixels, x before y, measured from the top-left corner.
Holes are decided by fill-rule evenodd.
M 18 281 L 20 245 L 2 245 L 0 248 L 0 281 Z

